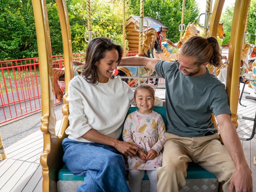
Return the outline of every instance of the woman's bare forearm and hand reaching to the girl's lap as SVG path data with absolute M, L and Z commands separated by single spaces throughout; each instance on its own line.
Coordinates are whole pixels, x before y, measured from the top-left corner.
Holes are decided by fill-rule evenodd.
M 139 148 L 137 145 L 108 137 L 106 135 L 103 135 L 95 131 L 94 129 L 90 129 L 82 137 L 86 140 L 89 140 L 95 143 L 112 146 L 116 148 L 117 151 L 124 154 L 125 156 L 136 155 L 136 151 L 141 150 L 141 148 Z

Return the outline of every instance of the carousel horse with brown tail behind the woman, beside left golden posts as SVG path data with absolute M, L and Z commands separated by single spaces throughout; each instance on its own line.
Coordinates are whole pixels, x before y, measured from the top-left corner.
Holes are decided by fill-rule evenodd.
M 82 67 L 77 68 L 80 65 L 84 65 L 84 63 L 80 61 L 73 61 L 73 74 L 81 75 L 82 74 Z M 65 69 L 64 68 L 53 68 L 52 69 L 53 74 L 53 93 L 55 95 L 55 98 L 62 103 L 62 97 L 65 92 Z M 64 92 L 62 92 L 62 90 Z

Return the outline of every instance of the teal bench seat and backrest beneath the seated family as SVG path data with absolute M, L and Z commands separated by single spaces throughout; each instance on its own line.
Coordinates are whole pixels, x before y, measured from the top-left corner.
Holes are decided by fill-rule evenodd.
M 138 109 L 137 107 L 130 107 L 126 114 L 126 117 L 130 113 L 132 113 L 133 111 L 135 111 L 137 109 Z M 166 123 L 165 107 L 154 107 L 153 110 L 156 111 L 157 113 L 159 113 L 163 117 L 164 123 Z M 122 134 L 121 134 L 119 140 L 123 140 Z M 84 180 L 84 177 L 85 176 L 78 177 L 78 176 L 73 175 L 71 172 L 69 172 L 66 165 L 64 165 L 62 167 L 62 169 L 60 169 L 60 171 L 59 171 L 59 180 L 63 180 L 63 181 Z M 125 178 L 126 178 L 126 180 L 128 180 L 128 172 L 126 172 Z M 210 178 L 216 178 L 216 176 L 214 174 L 206 171 L 204 168 L 200 167 L 196 163 L 193 163 L 193 162 L 188 163 L 186 179 L 210 179 Z M 148 175 L 146 173 L 143 177 L 143 180 L 149 180 Z

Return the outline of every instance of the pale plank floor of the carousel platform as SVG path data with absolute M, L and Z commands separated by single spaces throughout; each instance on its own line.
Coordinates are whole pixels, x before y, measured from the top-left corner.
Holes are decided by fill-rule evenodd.
M 245 96 L 255 97 L 256 94 L 247 85 L 244 91 L 250 92 L 251 94 L 243 94 L 241 103 L 246 105 L 246 107 L 238 105 L 237 133 L 239 137 L 250 137 L 253 121 L 244 120 L 242 117 L 255 117 L 256 101 L 245 99 Z M 157 90 L 156 96 L 164 98 L 165 90 Z M 23 118 L 23 120 L 26 122 L 26 118 Z M 56 132 L 59 129 L 60 123 L 60 121 L 56 123 Z M 252 176 L 254 176 L 252 177 L 253 191 L 256 192 L 256 165 L 253 162 L 253 157 L 256 156 L 256 135 L 250 141 L 241 140 L 241 144 L 243 145 L 246 161 L 252 169 Z M 42 167 L 40 165 L 42 150 L 43 134 L 40 130 L 5 148 L 7 158 L 0 161 L 0 192 L 42 191 Z M 190 189 L 189 191 L 191 190 L 205 191 L 203 188 Z

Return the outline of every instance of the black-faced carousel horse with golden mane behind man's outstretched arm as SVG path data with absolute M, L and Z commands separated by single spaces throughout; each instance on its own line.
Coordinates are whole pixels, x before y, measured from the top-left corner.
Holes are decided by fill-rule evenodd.
M 136 56 L 144 56 L 144 57 L 154 57 L 153 50 L 156 50 L 157 53 L 162 53 L 162 44 L 161 41 L 163 37 L 161 36 L 162 27 L 159 31 L 156 31 L 154 28 L 148 28 L 147 31 L 143 33 L 143 50 L 141 55 Z M 114 72 L 114 76 L 139 76 L 139 70 L 137 67 L 117 67 Z M 148 67 L 141 67 L 140 68 L 140 76 L 155 76 L 155 72 L 148 68 Z M 135 86 L 138 84 L 137 78 L 122 78 L 130 87 Z M 153 82 L 153 79 L 149 79 Z M 148 79 L 140 78 L 140 82 L 146 82 Z M 158 79 L 154 82 L 154 85 L 157 86 Z

